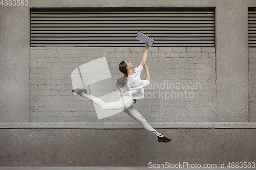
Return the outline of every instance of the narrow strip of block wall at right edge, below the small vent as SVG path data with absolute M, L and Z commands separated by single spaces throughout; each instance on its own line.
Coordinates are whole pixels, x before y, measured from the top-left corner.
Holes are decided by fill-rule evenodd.
M 256 48 L 249 48 L 249 122 L 256 122 Z

